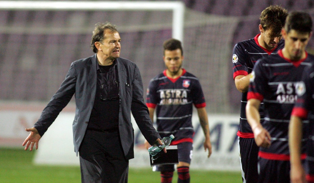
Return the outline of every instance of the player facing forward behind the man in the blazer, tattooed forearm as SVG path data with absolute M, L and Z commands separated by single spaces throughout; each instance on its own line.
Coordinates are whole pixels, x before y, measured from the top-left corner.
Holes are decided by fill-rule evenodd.
M 181 42 L 168 39 L 164 42 L 164 62 L 166 70 L 154 77 L 147 89 L 147 107 L 153 120 L 156 109 L 157 131 L 161 137 L 173 134 L 175 139 L 170 145 L 178 146 L 179 164 L 177 165 L 178 183 L 190 182 L 189 166 L 192 158 L 193 104 L 205 135 L 204 149 L 208 157 L 212 153 L 205 99 L 198 78 L 181 68 L 183 50 Z M 148 148 L 148 144 L 145 146 Z M 161 183 L 172 181 L 174 165 L 161 165 Z

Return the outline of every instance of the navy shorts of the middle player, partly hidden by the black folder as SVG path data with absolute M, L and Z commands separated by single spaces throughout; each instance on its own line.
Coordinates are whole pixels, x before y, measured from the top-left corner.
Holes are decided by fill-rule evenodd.
M 192 142 L 183 142 L 180 144 L 177 144 L 178 146 L 178 159 L 179 162 L 185 162 L 190 164 L 192 159 Z M 153 171 L 174 171 L 174 165 L 160 165 L 160 166 L 154 166 Z

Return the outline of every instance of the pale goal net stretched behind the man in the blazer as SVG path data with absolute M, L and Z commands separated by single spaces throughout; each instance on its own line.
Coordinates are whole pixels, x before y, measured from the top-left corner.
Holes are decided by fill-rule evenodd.
M 181 22 L 178 14 L 182 10 L 168 6 L 169 2 L 154 4 L 157 9 L 137 7 L 132 11 L 124 10 L 122 4 L 102 10 L 99 7 L 103 5 L 90 7 L 77 2 L 77 7 L 58 5 L 56 9 L 41 2 L 40 8 L 31 9 L 25 2 L 22 6 L 9 1 L 7 7 L 3 7 L 3 2 L 0 4 L 1 99 L 49 100 L 71 62 L 94 54 L 90 41 L 95 24 L 109 21 L 118 26 L 122 38 L 120 56 L 138 65 L 144 89 L 151 78 L 165 69 L 162 43 L 174 37 L 183 42 L 183 67 L 200 79 L 208 112 L 232 112 L 228 89 L 232 72 L 230 55 L 239 18 L 186 9 Z

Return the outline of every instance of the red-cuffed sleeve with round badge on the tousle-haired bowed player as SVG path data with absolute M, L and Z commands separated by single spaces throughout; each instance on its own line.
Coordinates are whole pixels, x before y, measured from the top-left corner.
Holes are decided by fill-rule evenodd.
M 248 56 L 246 55 L 245 49 L 241 44 L 237 43 L 233 48 L 233 55 L 232 55 L 232 63 L 233 63 L 233 79 L 236 76 L 246 76 L 248 75 L 248 68 L 246 64 L 246 60 Z

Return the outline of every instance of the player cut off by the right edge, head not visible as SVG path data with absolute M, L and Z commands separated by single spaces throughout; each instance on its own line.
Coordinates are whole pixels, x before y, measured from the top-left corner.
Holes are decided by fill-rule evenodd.
M 298 93 L 298 100 L 293 107 L 289 124 L 290 149 L 290 179 L 292 183 L 314 182 L 314 65 L 304 70 L 302 77 L 302 90 Z M 307 120 L 308 119 L 308 120 Z M 309 138 L 306 144 L 307 172 L 300 159 L 303 124 L 309 123 Z

